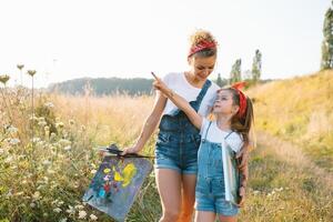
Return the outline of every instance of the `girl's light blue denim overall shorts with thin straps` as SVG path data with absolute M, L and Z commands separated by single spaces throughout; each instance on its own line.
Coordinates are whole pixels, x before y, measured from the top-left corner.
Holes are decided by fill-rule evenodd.
M 195 209 L 196 211 L 211 211 L 231 216 L 239 213 L 239 208 L 225 201 L 222 147 L 221 143 L 206 140 L 211 123 L 198 152 L 199 169 L 195 186 Z

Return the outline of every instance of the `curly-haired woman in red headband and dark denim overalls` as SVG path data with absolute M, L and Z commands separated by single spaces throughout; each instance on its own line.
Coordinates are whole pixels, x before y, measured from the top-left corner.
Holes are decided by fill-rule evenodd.
M 163 82 L 189 101 L 202 117 L 210 113 L 219 90 L 215 83 L 208 80 L 216 62 L 216 41 L 212 34 L 199 30 L 190 38 L 189 70 L 169 73 L 163 78 Z M 160 221 L 191 221 L 200 134 L 188 117 L 162 93 L 157 92 L 153 109 L 145 120 L 140 137 L 133 147 L 124 150 L 123 154 L 140 152 L 159 122 L 155 180 L 163 210 Z

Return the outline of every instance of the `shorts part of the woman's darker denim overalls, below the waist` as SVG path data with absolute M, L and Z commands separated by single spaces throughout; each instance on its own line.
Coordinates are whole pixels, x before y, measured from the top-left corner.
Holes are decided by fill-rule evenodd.
M 200 134 L 160 131 L 155 149 L 155 169 L 196 174 L 200 140 Z

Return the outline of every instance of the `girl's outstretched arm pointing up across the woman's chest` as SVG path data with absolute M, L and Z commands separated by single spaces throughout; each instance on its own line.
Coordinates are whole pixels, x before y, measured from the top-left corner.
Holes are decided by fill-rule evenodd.
M 182 110 L 192 124 L 198 129 L 201 129 L 202 125 L 202 117 L 195 112 L 195 110 L 190 105 L 190 103 L 182 98 L 181 95 L 176 94 L 174 91 L 169 89 L 167 84 L 160 79 L 155 77 L 155 81 L 153 82 L 153 87 L 157 90 L 160 90 L 163 95 L 168 97 L 180 110 Z

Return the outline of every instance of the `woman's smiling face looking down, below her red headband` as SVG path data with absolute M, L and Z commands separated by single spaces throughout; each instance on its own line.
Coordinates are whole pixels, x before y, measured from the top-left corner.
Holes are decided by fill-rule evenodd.
M 191 57 L 189 58 L 189 64 L 191 68 L 191 73 L 194 74 L 195 79 L 200 81 L 206 80 L 206 78 L 212 73 L 215 67 L 216 57 Z

